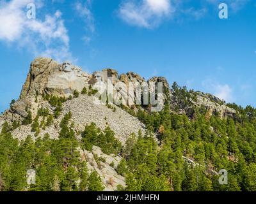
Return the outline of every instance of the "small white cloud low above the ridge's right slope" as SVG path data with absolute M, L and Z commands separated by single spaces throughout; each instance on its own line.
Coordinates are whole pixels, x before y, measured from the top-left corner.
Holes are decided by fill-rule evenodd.
M 228 84 L 220 84 L 212 80 L 204 80 L 202 86 L 207 92 L 211 92 L 214 96 L 225 101 L 234 102 L 233 91 Z

